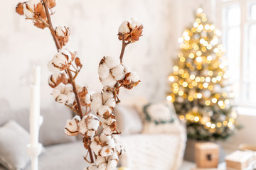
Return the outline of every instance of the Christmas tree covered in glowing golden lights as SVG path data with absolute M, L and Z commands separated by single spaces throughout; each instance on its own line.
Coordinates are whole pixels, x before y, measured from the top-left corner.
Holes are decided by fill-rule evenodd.
M 178 38 L 181 50 L 169 75 L 166 99 L 174 103 L 179 118 L 186 121 L 188 137 L 195 140 L 226 139 L 239 128 L 220 35 L 198 8 L 193 26 Z

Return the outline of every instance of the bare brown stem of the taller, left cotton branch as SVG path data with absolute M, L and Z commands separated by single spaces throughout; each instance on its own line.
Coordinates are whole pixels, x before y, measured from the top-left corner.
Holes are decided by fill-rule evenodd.
M 58 40 L 56 38 L 55 31 L 53 29 L 53 24 L 51 23 L 51 20 L 50 20 L 50 13 L 49 13 L 48 6 L 47 6 L 46 3 L 47 3 L 47 0 L 43 0 L 43 6 L 44 6 L 44 8 L 46 10 L 46 16 L 47 16 L 47 20 L 48 20 L 48 23 L 49 23 L 48 28 L 50 29 L 50 33 L 53 36 L 53 40 L 55 42 L 57 50 L 59 51 L 61 49 L 60 43 L 58 42 Z M 66 69 L 66 70 L 68 72 L 68 77 L 70 78 L 70 83 L 73 85 L 73 92 L 75 94 L 75 99 L 77 101 L 77 106 L 78 106 L 78 115 L 82 119 L 82 108 L 81 108 L 80 99 L 79 99 L 79 96 L 78 96 L 78 91 L 77 91 L 76 86 L 75 86 L 75 79 L 73 79 L 73 75 L 70 72 L 70 70 L 69 69 Z M 90 154 L 90 161 L 92 163 L 94 163 L 94 159 L 92 157 L 92 149 L 90 148 L 90 146 L 89 146 L 88 152 Z

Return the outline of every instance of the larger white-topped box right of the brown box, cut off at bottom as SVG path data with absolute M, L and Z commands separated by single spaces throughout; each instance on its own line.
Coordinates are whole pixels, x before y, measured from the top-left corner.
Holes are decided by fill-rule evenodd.
M 245 170 L 252 161 L 252 157 L 252 152 L 245 152 L 240 150 L 235 151 L 232 154 L 229 154 L 227 157 L 225 157 L 227 169 Z

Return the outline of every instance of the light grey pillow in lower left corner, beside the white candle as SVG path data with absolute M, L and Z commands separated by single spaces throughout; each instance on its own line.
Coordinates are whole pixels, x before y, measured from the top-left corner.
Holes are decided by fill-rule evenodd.
M 14 120 L 0 127 L 0 164 L 6 169 L 25 169 L 30 159 L 26 152 L 29 134 Z

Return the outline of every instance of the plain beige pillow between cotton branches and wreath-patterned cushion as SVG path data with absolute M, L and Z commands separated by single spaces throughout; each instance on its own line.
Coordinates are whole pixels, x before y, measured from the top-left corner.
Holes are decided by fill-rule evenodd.
M 114 108 L 114 115 L 117 119 L 117 130 L 122 132 L 122 135 L 142 132 L 142 119 L 136 108 L 119 105 Z

